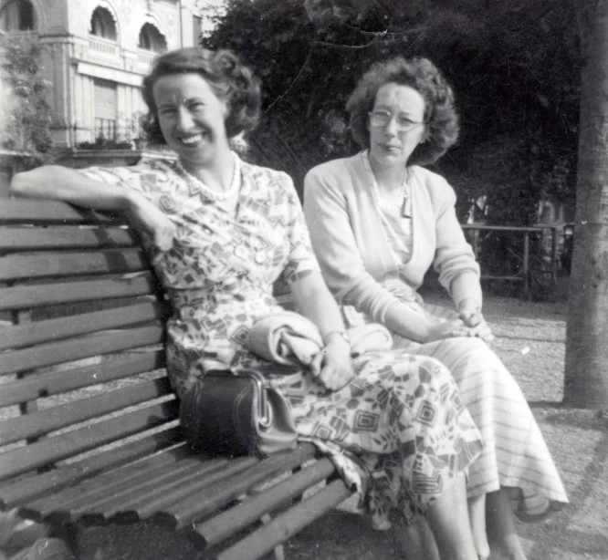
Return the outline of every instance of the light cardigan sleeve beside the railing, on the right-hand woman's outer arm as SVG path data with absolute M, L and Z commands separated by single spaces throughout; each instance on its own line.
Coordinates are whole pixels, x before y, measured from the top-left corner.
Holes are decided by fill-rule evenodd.
M 435 178 L 437 181 L 431 194 L 436 236 L 433 264 L 439 273 L 439 282 L 454 299 L 456 308 L 466 297 L 473 297 L 481 306 L 479 265 L 456 218 L 456 192 L 445 179 L 438 175 Z

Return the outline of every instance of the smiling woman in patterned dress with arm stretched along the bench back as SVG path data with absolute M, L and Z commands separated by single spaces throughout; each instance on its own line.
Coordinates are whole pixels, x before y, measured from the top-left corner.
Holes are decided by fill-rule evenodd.
M 206 371 L 256 368 L 288 398 L 299 435 L 358 480 L 372 523 L 401 534 L 425 514 L 436 542 L 415 558 L 473 560 L 465 472 L 480 436 L 446 368 L 403 351 L 351 360 L 333 297 L 310 249 L 285 173 L 240 161 L 229 139 L 257 121 L 259 86 L 228 51 L 159 57 L 144 82 L 147 130 L 178 161 L 16 175 L 16 196 L 53 198 L 130 216 L 173 304 L 169 374 L 178 396 Z M 246 350 L 246 334 L 281 312 L 283 274 L 325 347 L 310 368 L 278 369 Z M 426 534 L 425 536 L 429 536 Z

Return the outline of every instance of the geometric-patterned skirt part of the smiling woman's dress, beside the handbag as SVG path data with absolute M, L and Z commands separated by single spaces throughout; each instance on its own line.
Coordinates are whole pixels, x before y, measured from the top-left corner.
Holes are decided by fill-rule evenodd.
M 409 524 L 466 472 L 483 443 L 438 361 L 393 350 L 353 366 L 357 377 L 336 392 L 308 373 L 271 383 L 290 401 L 299 434 L 330 451 L 347 481 L 353 466 L 362 475 L 374 527 Z

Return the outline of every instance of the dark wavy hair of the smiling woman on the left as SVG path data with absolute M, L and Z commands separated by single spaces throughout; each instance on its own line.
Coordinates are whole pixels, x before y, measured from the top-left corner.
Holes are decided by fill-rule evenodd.
M 259 119 L 260 82 L 229 50 L 208 50 L 188 47 L 165 53 L 154 60 L 152 70 L 143 79 L 142 96 L 148 113 L 142 119 L 142 129 L 155 144 L 165 144 L 153 88 L 159 78 L 177 74 L 198 74 L 209 84 L 218 99 L 227 103 L 225 131 L 228 138 L 253 130 Z

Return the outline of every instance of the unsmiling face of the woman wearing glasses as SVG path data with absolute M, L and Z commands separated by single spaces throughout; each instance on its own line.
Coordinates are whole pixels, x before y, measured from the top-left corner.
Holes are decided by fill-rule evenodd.
M 374 113 L 388 119 L 385 126 L 372 123 Z M 386 167 L 405 166 L 416 146 L 425 140 L 424 120 L 425 99 L 420 93 L 409 86 L 384 84 L 378 89 L 368 117 L 370 158 Z

